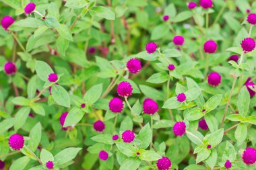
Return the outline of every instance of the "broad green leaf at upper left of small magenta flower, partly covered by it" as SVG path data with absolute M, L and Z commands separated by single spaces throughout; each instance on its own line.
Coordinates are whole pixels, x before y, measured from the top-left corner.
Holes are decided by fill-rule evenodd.
M 42 81 L 48 81 L 51 73 L 54 73 L 53 69 L 46 62 L 36 60 L 36 74 Z

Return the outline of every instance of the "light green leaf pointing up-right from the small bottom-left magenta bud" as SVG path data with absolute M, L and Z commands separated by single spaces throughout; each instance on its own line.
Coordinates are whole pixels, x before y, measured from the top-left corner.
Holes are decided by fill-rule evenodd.
M 61 166 L 72 159 L 74 159 L 77 155 L 77 153 L 81 150 L 82 148 L 65 148 L 61 152 L 57 153 L 57 155 L 54 156 L 54 160 L 57 161 L 57 165 Z

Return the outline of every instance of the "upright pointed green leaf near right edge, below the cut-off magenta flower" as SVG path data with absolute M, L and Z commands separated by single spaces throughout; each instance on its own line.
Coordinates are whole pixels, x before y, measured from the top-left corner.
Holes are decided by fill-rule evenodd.
M 249 110 L 249 105 L 250 105 L 250 94 L 249 91 L 247 90 L 247 87 L 243 87 L 238 95 L 237 99 L 237 107 L 238 107 L 238 112 L 242 116 L 246 116 Z

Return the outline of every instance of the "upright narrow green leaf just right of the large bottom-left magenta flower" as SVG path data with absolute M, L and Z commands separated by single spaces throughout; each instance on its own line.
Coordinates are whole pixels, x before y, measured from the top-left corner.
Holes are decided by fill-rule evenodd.
M 32 152 L 36 151 L 37 146 L 40 143 L 42 134 L 42 126 L 40 122 L 38 122 L 30 131 L 30 140 L 28 140 L 28 147 Z

